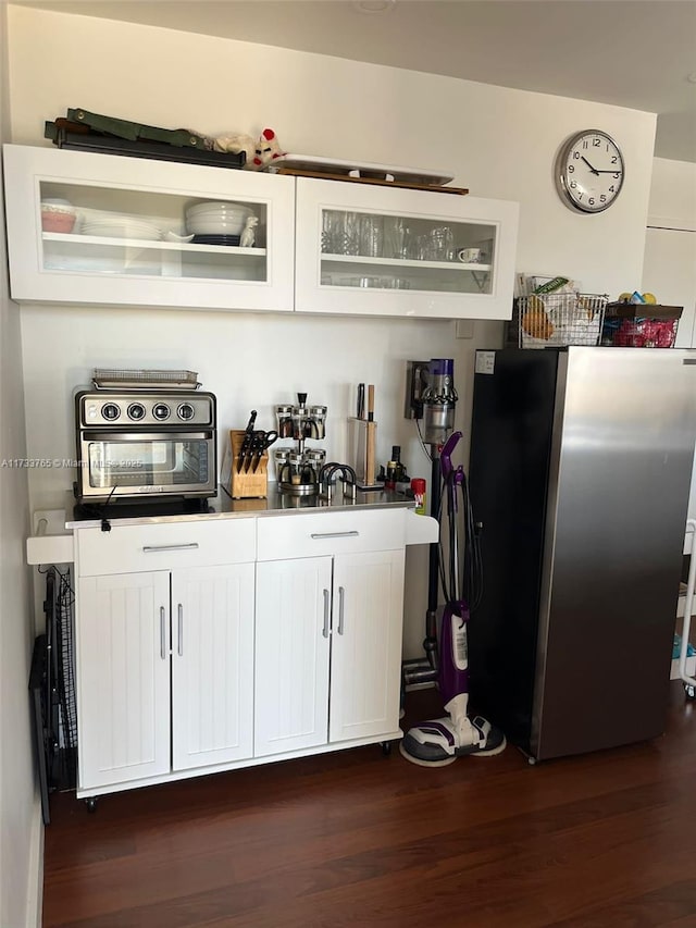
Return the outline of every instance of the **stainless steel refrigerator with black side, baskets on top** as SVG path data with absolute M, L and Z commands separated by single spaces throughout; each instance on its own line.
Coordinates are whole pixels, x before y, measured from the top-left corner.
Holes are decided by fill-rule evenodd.
M 530 758 L 664 730 L 696 351 L 477 351 L 472 709 Z

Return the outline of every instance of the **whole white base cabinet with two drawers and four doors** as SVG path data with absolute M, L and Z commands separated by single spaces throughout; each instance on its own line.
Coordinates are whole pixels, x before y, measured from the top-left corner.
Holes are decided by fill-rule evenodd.
M 75 529 L 77 796 L 399 738 L 436 539 L 400 507 Z

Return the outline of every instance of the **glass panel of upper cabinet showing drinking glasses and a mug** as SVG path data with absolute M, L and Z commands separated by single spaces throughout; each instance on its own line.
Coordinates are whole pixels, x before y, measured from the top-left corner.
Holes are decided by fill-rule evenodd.
M 321 211 L 320 285 L 489 294 L 497 225 Z

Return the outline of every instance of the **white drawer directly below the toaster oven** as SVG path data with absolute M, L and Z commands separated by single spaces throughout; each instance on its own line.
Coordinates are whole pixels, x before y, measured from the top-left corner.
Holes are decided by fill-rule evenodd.
M 77 529 L 80 577 L 256 560 L 256 519 Z

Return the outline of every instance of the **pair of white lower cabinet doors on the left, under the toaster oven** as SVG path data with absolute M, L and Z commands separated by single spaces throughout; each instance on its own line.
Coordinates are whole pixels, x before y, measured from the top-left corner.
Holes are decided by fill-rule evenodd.
M 78 602 L 82 790 L 251 756 L 252 564 L 86 577 Z

